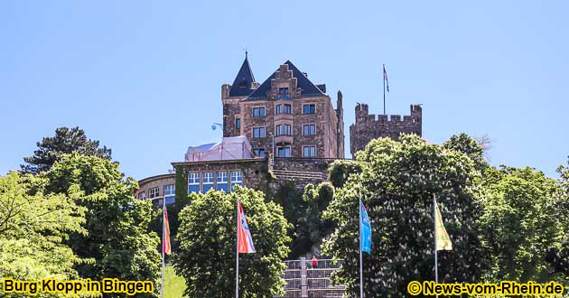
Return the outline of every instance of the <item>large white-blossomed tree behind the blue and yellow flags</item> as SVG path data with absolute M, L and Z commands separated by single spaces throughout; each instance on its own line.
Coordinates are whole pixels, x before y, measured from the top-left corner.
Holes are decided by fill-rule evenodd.
M 484 269 L 478 201 L 480 172 L 466 155 L 427 144 L 416 135 L 401 143 L 372 140 L 352 174 L 324 212 L 337 228 L 324 253 L 344 259 L 336 282 L 359 296 L 359 207 L 361 198 L 372 227 L 372 252 L 364 254 L 366 296 L 406 296 L 413 280 L 434 280 L 433 198 L 436 195 L 453 250 L 439 252 L 439 282 L 473 282 Z

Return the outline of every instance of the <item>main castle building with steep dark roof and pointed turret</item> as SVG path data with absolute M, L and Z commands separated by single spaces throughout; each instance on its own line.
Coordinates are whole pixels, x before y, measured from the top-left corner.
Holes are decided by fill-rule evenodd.
M 265 154 L 275 152 L 275 156 L 279 156 L 279 148 L 288 148 L 291 157 L 307 157 L 306 153 L 310 157 L 344 157 L 340 92 L 334 109 L 331 98 L 324 93 L 325 86 L 312 84 L 306 74 L 289 61 L 263 84 L 248 83 L 253 75 L 241 73 L 242 70 L 250 70 L 247 59 L 245 63 L 247 66 L 242 66 L 238 74 L 238 78 L 244 79 L 236 79 L 234 84 L 241 84 L 244 88 L 251 86 L 251 94 L 243 96 L 229 84 L 221 87 L 223 136 L 247 136 L 256 153 L 261 150 Z M 263 113 L 257 115 L 261 109 Z M 312 133 L 311 125 L 314 127 Z M 277 131 L 279 126 L 280 134 Z M 308 126 L 308 134 L 305 134 L 304 126 Z M 259 129 L 263 130 L 262 135 L 257 134 Z M 309 148 L 305 149 L 305 146 Z M 313 155 L 310 146 L 313 146 Z

